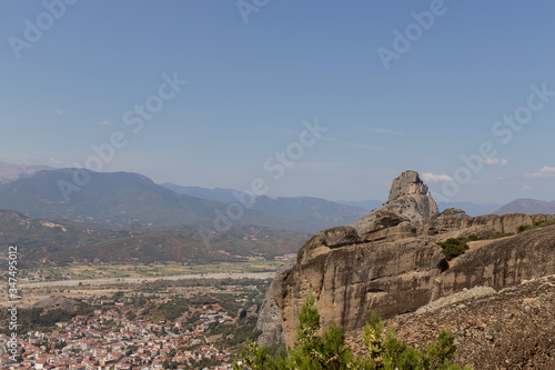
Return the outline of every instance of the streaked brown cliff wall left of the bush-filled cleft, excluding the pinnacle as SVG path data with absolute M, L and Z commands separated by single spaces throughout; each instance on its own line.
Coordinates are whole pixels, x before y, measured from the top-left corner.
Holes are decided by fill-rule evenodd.
M 334 233 L 354 232 L 337 229 Z M 435 279 L 447 267 L 441 248 L 426 239 L 339 247 L 326 243 L 325 233 L 316 234 L 324 242 L 309 240 L 296 264 L 275 279 L 274 299 L 287 343 L 294 340 L 299 310 L 311 291 L 324 324 L 334 319 L 349 330 L 364 326 L 372 310 L 392 317 L 426 304 Z

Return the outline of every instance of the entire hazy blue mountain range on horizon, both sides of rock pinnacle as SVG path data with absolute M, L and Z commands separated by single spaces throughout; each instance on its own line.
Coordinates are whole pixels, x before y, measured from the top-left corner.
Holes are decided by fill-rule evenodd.
M 41 170 L 42 169 L 42 170 Z M 240 207 L 238 198 L 250 197 L 233 189 L 206 189 L 163 186 L 130 172 L 91 172 L 90 182 L 75 184 L 75 169 L 52 169 L 0 162 L 0 209 L 12 209 L 32 218 L 64 220 L 77 224 L 98 223 L 124 227 L 195 224 L 258 226 L 272 230 L 313 233 L 330 227 L 349 224 L 380 208 L 381 200 L 329 201 L 312 197 L 258 197 Z M 69 187 L 69 199 L 60 191 L 60 181 Z M 68 201 L 67 201 L 68 200 Z M 234 206 L 230 206 L 233 204 Z M 440 202 L 440 210 L 463 209 L 470 216 L 505 212 L 555 213 L 555 203 L 517 200 L 497 203 Z

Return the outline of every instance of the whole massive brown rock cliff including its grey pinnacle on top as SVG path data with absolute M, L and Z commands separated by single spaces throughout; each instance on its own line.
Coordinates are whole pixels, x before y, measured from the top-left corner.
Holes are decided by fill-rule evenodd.
M 451 267 L 436 242 L 470 234 L 487 239 L 554 219 L 549 214 L 471 218 L 457 210 L 440 214 L 427 187 L 416 172 L 407 171 L 393 181 L 383 208 L 309 239 L 296 263 L 276 276 L 266 304 L 279 309 L 283 337 L 292 344 L 309 292 L 316 298 L 324 326 L 335 320 L 354 330 L 365 324 L 372 311 L 393 318 L 464 288 L 501 289 L 553 274 L 555 227 L 480 242 L 481 248 L 472 248 Z

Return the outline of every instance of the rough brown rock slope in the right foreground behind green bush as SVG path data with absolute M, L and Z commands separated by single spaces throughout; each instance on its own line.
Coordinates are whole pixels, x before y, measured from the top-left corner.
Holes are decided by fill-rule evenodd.
M 385 320 L 385 327 L 420 349 L 447 329 L 455 337 L 458 362 L 474 369 L 555 369 L 555 276 L 498 292 L 481 288 L 465 293 L 466 299 Z M 362 329 L 346 338 L 355 352 L 365 351 Z

